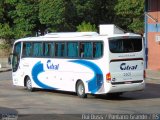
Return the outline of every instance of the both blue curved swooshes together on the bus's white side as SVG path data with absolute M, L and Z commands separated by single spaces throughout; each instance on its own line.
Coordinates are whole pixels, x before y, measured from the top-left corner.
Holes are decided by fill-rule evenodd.
M 83 65 L 85 67 L 90 68 L 94 72 L 94 77 L 87 81 L 88 83 L 88 90 L 91 93 L 96 93 L 103 85 L 103 73 L 101 69 L 94 63 L 86 61 L 86 60 L 71 60 L 70 62 L 77 63 Z M 41 88 L 44 89 L 57 89 L 51 86 L 48 86 L 38 79 L 38 75 L 42 72 L 45 72 L 43 69 L 43 64 L 39 61 L 37 62 L 32 69 L 32 78 L 33 81 Z

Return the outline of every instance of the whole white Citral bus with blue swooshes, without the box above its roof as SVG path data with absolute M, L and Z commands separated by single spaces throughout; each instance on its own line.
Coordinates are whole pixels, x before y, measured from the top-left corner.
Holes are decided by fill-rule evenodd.
M 13 84 L 87 94 L 139 91 L 144 82 L 140 35 L 96 32 L 50 33 L 15 41 Z

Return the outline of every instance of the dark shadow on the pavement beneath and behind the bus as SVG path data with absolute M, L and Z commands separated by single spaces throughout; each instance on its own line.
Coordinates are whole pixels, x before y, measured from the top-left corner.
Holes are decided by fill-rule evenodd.
M 120 96 L 116 95 L 88 95 L 87 99 L 103 99 L 103 100 L 115 100 L 115 101 L 124 101 L 124 100 L 139 100 L 139 99 L 156 99 L 160 98 L 160 84 L 146 83 L 146 87 L 143 91 L 135 92 L 126 92 Z M 63 97 L 77 97 L 77 94 L 74 92 L 64 92 L 56 90 L 42 90 L 36 89 L 34 92 L 39 93 L 52 93 L 53 95 L 63 96 Z

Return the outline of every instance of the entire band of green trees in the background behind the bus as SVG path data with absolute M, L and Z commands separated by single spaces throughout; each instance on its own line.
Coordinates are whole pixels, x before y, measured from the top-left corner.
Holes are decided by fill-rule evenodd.
M 143 10 L 144 0 L 0 0 L 0 38 L 97 31 L 100 24 L 142 33 Z

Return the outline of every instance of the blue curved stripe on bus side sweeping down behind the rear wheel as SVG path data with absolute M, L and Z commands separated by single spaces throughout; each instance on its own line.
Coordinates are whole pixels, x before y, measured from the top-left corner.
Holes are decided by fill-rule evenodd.
M 90 68 L 94 72 L 94 77 L 88 80 L 88 90 L 91 93 L 96 93 L 103 85 L 103 73 L 101 69 L 94 63 L 86 60 L 71 60 L 70 62 L 83 65 Z

